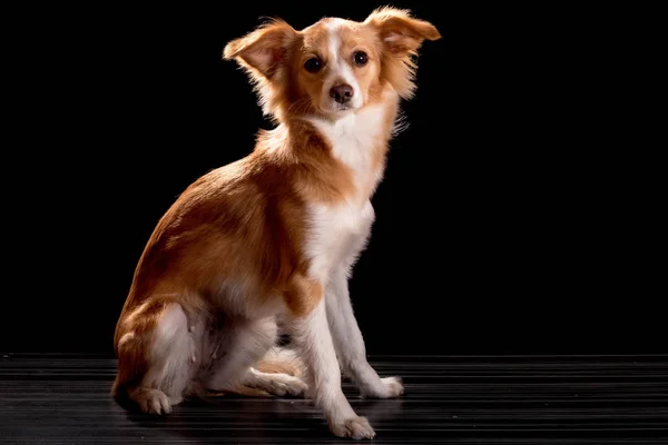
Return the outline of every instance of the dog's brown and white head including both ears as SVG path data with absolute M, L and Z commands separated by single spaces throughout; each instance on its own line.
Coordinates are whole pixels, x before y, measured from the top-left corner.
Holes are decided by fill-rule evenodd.
M 382 8 L 363 22 L 325 18 L 301 31 L 273 20 L 225 47 L 255 82 L 265 113 L 336 116 L 377 100 L 385 85 L 415 88 L 414 56 L 436 28 Z

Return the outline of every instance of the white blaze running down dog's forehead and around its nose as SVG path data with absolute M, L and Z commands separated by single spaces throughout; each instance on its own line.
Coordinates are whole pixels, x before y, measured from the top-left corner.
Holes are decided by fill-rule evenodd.
M 327 61 L 327 77 L 323 85 L 323 108 L 325 109 L 337 109 L 338 103 L 330 96 L 330 89 L 341 83 L 347 83 L 353 87 L 353 99 L 351 105 L 353 108 L 360 108 L 363 105 L 362 91 L 360 90 L 360 83 L 353 72 L 351 60 L 348 55 L 342 55 L 341 48 L 341 36 L 338 29 L 345 23 L 345 20 L 334 19 L 327 23 L 328 31 L 328 61 Z

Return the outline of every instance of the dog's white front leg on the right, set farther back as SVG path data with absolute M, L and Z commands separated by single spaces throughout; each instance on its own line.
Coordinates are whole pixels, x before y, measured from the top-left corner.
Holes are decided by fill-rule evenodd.
M 327 320 L 344 372 L 355 382 L 363 396 L 391 398 L 403 394 L 397 377 L 379 377 L 366 360 L 366 347 L 351 305 L 345 270 L 337 270 L 327 288 Z

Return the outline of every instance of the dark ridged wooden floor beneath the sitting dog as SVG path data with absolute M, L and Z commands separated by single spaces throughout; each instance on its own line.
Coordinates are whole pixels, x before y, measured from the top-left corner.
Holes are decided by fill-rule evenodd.
M 362 400 L 376 444 L 668 444 L 668 355 L 375 357 L 404 377 L 395 400 Z M 109 397 L 115 360 L 3 354 L 0 442 L 12 444 L 344 443 L 306 400 L 224 397 L 168 417 Z

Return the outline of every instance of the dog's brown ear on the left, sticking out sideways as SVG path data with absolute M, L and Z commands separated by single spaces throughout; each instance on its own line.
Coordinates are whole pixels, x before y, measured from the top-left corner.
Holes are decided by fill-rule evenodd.
M 283 20 L 275 19 L 227 43 L 223 51 L 223 58 L 236 60 L 254 77 L 264 77 L 271 80 L 285 59 L 286 50 L 296 36 L 297 31 L 293 27 Z

